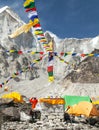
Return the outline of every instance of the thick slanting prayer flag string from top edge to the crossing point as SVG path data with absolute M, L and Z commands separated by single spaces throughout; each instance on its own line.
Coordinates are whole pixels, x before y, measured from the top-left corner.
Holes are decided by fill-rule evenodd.
M 44 36 L 44 32 L 42 30 L 42 27 L 40 25 L 40 20 L 38 17 L 37 9 L 35 7 L 35 1 L 34 0 L 25 0 L 23 4 L 26 12 L 28 13 L 28 18 L 30 21 L 34 22 L 35 19 L 38 19 L 38 22 L 33 25 L 34 28 L 34 34 L 37 37 L 37 40 L 43 44 L 43 47 L 46 49 L 46 46 L 48 45 L 47 40 Z

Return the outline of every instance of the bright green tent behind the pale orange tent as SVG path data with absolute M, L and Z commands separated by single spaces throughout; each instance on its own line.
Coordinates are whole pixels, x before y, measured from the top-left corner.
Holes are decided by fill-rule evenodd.
M 78 104 L 81 101 L 88 101 L 91 102 L 89 96 L 70 96 L 65 95 L 62 98 L 65 100 L 65 109 L 67 106 L 73 106 L 74 104 Z

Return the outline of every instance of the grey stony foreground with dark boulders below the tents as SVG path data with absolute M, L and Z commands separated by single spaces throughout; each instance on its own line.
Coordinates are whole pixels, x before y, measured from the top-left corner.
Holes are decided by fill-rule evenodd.
M 46 119 L 41 118 L 42 115 L 33 119 L 30 110 L 29 103 L 16 104 L 13 100 L 0 100 L 0 130 L 99 130 L 99 117 L 76 117 L 64 113 L 64 120 L 60 121 L 60 116 L 55 113 L 49 114 L 48 117 L 46 113 Z M 60 109 L 57 110 L 57 106 L 54 110 L 60 111 Z M 54 119 L 55 116 L 56 119 Z

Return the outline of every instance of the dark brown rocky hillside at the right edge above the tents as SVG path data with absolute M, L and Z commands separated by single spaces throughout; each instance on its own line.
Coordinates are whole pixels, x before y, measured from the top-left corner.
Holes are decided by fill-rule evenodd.
M 99 50 L 92 52 L 99 54 Z M 73 83 L 99 83 L 99 57 L 87 57 L 66 78 Z

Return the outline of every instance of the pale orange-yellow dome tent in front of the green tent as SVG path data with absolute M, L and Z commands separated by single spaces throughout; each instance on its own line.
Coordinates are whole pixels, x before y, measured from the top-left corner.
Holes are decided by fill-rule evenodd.
M 90 102 L 80 102 L 78 104 L 75 104 L 71 106 L 67 112 L 72 115 L 85 115 L 87 117 L 89 116 L 99 116 L 99 111 L 96 109 L 96 107 L 90 103 Z

